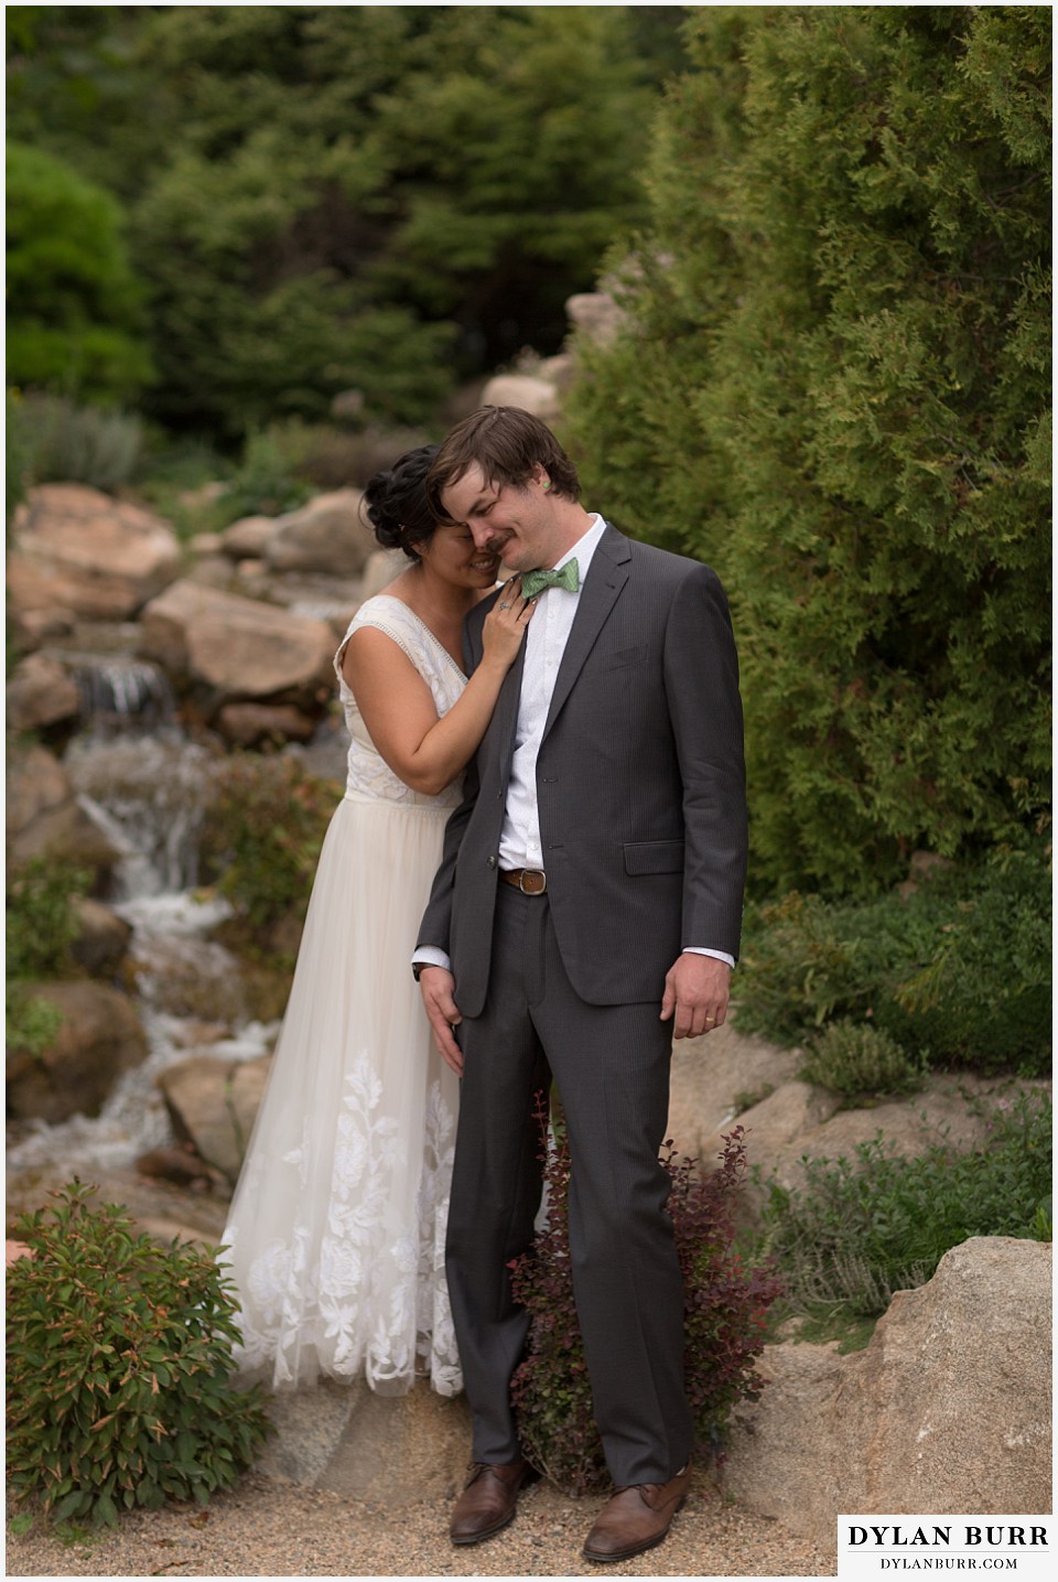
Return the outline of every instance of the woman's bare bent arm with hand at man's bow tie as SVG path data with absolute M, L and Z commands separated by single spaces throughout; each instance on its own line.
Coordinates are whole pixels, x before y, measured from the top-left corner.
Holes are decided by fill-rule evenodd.
M 520 598 L 508 609 L 493 606 L 482 631 L 481 664 L 441 718 L 430 688 L 392 638 L 376 626 L 361 626 L 350 638 L 342 674 L 375 747 L 413 791 L 436 796 L 470 763 L 531 612 Z

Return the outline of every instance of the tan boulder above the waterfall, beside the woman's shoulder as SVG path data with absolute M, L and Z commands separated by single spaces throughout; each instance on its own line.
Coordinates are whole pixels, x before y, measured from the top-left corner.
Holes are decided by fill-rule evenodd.
M 187 577 L 144 611 L 141 652 L 171 676 L 212 688 L 218 706 L 291 693 L 315 702 L 319 688 L 323 699 L 334 690 L 334 642 L 326 622 Z

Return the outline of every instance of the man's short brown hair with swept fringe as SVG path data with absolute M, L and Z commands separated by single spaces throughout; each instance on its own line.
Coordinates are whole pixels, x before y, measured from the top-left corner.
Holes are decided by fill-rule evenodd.
M 516 489 L 523 489 L 535 468 L 542 467 L 557 495 L 580 498 L 577 468 L 547 424 L 520 407 L 479 407 L 452 429 L 425 481 L 427 500 L 436 516 L 444 517 L 444 489 L 474 462 L 487 484 L 511 484 Z

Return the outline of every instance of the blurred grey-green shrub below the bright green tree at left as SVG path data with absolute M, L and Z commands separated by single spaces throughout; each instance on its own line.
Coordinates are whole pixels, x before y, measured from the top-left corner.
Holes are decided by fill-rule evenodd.
M 22 435 L 32 483 L 90 484 L 109 494 L 134 476 L 144 445 L 134 414 L 79 407 L 65 396 L 27 396 Z

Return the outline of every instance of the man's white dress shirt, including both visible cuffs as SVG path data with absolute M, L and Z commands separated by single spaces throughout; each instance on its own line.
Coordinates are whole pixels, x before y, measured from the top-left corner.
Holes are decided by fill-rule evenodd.
M 525 666 L 522 671 L 522 693 L 514 731 L 514 756 L 511 759 L 511 778 L 508 782 L 508 799 L 503 829 L 500 832 L 501 869 L 544 867 L 536 808 L 536 758 L 544 737 L 544 725 L 547 723 L 558 668 L 566 652 L 577 604 L 580 603 L 580 589 L 604 532 L 606 522 L 601 516 L 593 514 L 588 532 L 550 568 L 560 571 L 568 560 L 576 560 L 580 579 L 580 587 L 576 593 L 569 593 L 568 589 L 550 587 L 536 596 L 536 611 L 525 634 Z M 734 957 L 724 951 L 713 951 L 697 944 L 685 944 L 683 949 L 696 956 L 715 956 L 718 960 L 727 962 L 729 967 L 735 965 Z M 436 949 L 436 946 L 419 946 L 414 952 L 414 960 L 422 965 L 449 967 L 448 956 Z

